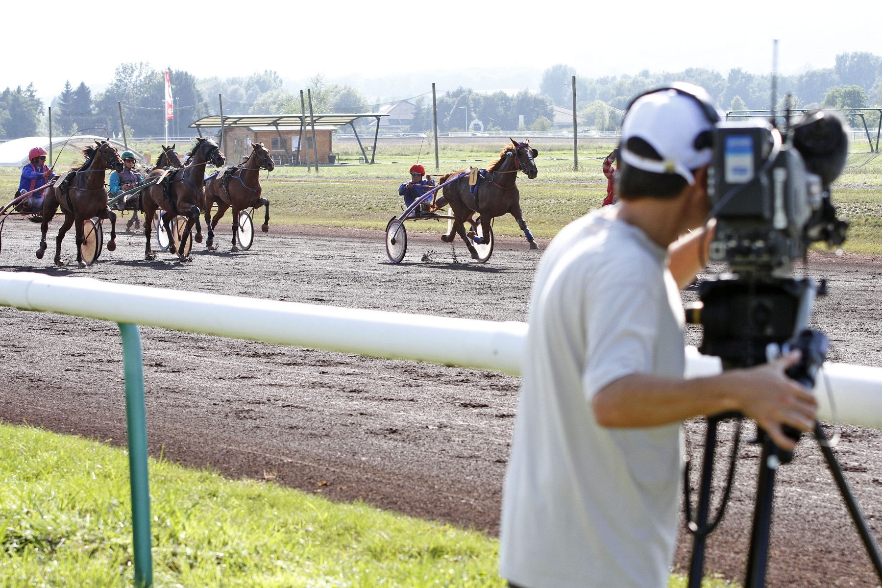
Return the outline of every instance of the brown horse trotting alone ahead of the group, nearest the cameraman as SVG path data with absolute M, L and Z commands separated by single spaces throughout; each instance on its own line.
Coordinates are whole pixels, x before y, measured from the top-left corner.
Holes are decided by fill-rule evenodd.
M 467 220 L 471 220 L 475 212 L 481 215 L 483 234 L 490 234 L 490 220 L 506 213 L 511 214 L 514 220 L 518 221 L 518 227 L 524 232 L 524 236 L 527 237 L 530 249 L 539 249 L 520 211 L 520 192 L 515 183 L 519 171 L 527 174 L 529 179 L 535 179 L 539 170 L 536 169 L 534 158 L 539 152 L 530 146 L 530 139 L 523 143 L 518 143 L 513 138 L 510 139 L 512 145 L 506 145 L 505 149 L 499 153 L 499 159 L 491 163 L 486 171 L 479 176 L 477 185 L 472 188 L 473 190 L 477 188 L 475 194 L 469 190 L 468 176 L 465 175 L 442 188 L 444 196 L 436 200 L 438 208 L 449 204 L 455 217 L 450 234 L 441 235 L 441 240 L 445 243 L 452 242 L 453 234 L 459 233 L 462 240 L 466 242 L 473 259 L 478 258 L 478 253 L 475 247 L 468 242 L 465 223 Z M 467 171 L 467 169 L 460 169 L 460 171 L 444 175 L 438 183 L 444 183 L 453 175 Z

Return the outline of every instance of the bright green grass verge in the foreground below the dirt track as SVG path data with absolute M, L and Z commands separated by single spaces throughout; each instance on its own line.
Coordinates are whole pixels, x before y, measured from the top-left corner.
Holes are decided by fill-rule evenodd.
M 131 586 L 125 451 L 0 425 L 0 480 L 0 585 Z M 163 460 L 150 484 L 156 586 L 505 586 L 482 532 Z

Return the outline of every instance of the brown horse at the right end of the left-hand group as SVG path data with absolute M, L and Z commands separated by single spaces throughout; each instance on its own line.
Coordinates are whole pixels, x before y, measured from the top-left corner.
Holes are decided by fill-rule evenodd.
M 270 202 L 260 197 L 260 170 L 273 171 L 275 163 L 270 153 L 266 151 L 263 143 L 252 143 L 251 154 L 242 165 L 228 167 L 223 174 L 213 174 L 206 180 L 206 226 L 208 227 L 208 241 L 206 246 L 212 248 L 214 242 L 214 227 L 223 218 L 227 209 L 233 207 L 233 251 L 235 246 L 235 234 L 239 230 L 239 212 L 249 208 L 265 206 L 264 224 L 260 230 L 264 233 L 270 230 Z M 218 205 L 218 212 L 212 219 L 212 205 Z

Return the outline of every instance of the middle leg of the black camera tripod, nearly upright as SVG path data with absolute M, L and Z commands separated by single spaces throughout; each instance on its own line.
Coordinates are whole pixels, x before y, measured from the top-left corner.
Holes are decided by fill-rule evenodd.
M 774 501 L 774 474 L 781 463 L 766 431 L 759 428 L 757 436 L 763 443 L 759 458 L 757 501 L 753 510 L 751 550 L 747 555 L 747 576 L 744 588 L 763 588 L 766 585 L 766 564 L 769 557 L 769 536 L 772 532 L 772 503 Z

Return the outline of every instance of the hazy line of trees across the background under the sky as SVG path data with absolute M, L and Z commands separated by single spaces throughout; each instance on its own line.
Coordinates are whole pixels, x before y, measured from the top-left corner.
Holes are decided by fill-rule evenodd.
M 120 135 L 117 102 L 123 105 L 127 132 L 138 137 L 160 137 L 164 132 L 165 70 L 149 63 L 121 63 L 104 92 L 93 93 L 84 82 L 64 84 L 53 108 L 56 136 L 83 132 Z M 466 130 L 466 121 L 478 119 L 485 130 L 549 130 L 554 119 L 553 106 L 572 108 L 572 76 L 576 71 L 563 63 L 549 67 L 542 74 L 539 92 L 523 90 L 515 95 L 504 92 L 480 93 L 467 87 L 446 92 L 437 98 L 438 129 Z M 175 98 L 175 122 L 169 134 L 190 134 L 187 127 L 206 115 L 219 113 L 218 94 L 224 96 L 224 114 L 300 114 L 304 111 L 299 93 L 282 87 L 276 71 L 255 72 L 250 76 L 196 78 L 183 70 L 170 73 Z M 640 71 L 636 75 L 586 78 L 577 76 L 580 122 L 597 130 L 615 130 L 630 100 L 639 93 L 673 81 L 703 86 L 716 100 L 718 108 L 729 110 L 769 108 L 772 78 L 733 68 L 728 74 L 704 68 L 678 72 Z M 309 80 L 313 112 L 357 113 L 376 111 L 352 86 L 328 84 L 317 75 Z M 882 57 L 867 52 L 842 53 L 832 68 L 780 76 L 779 100 L 792 94 L 794 108 L 863 108 L 882 106 Z M 431 103 L 425 96 L 413 100 L 415 118 L 410 130 L 431 128 Z M 46 105 L 37 98 L 34 85 L 0 93 L 0 137 L 28 137 L 48 132 Z M 463 108 L 465 107 L 465 108 Z M 309 107 L 306 106 L 306 112 Z M 878 115 L 868 115 L 868 122 L 878 123 Z M 365 121 L 370 124 L 370 121 Z

